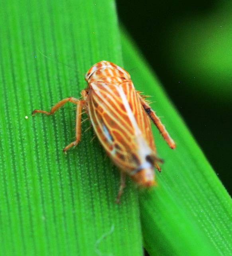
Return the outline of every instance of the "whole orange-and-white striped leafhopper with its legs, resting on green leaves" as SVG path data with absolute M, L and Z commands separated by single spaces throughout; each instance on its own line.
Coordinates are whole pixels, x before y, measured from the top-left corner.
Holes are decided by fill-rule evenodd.
M 53 114 L 66 102 L 77 105 L 76 140 L 63 149 L 66 152 L 80 141 L 81 113 L 82 110 L 87 112 L 102 146 L 120 169 L 116 198 L 119 203 L 126 174 L 138 185 L 150 187 L 156 184 L 154 167 L 161 171 L 158 163 L 163 161 L 156 154 L 150 119 L 170 148 L 175 148 L 175 142 L 144 97 L 135 90 L 126 70 L 102 60 L 88 70 L 85 80 L 88 86 L 81 91 L 81 100 L 68 97 L 55 104 L 50 112 L 34 110 L 32 114 Z

